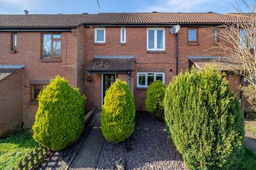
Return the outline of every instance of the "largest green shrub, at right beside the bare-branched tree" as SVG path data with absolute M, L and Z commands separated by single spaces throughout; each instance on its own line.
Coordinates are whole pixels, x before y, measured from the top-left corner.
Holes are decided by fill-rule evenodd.
M 167 86 L 165 122 L 189 169 L 230 169 L 243 156 L 241 104 L 212 66 L 180 73 Z

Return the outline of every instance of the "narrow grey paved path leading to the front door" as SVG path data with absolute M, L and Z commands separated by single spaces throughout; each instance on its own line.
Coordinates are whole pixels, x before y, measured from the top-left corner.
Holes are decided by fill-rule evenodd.
M 100 128 L 100 112 L 100 110 L 96 111 L 94 117 L 95 122 L 92 129 L 71 164 L 71 169 L 89 170 L 97 168 L 101 150 L 105 141 Z

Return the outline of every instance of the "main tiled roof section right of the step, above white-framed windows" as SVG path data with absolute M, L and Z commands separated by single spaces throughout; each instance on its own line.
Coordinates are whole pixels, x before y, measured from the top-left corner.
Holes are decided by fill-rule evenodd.
M 234 16 L 220 13 L 99 13 L 92 23 L 226 23 Z M 94 19 L 93 17 L 93 19 Z

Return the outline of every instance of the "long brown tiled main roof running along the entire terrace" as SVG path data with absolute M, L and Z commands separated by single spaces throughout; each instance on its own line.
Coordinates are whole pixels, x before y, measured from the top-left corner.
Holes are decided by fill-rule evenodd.
M 220 13 L 98 13 L 0 15 L 0 28 L 70 28 L 80 24 L 216 24 L 235 21 Z

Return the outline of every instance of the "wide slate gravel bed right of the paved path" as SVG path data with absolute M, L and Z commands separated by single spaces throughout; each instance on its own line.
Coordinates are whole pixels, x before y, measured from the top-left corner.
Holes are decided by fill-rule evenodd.
M 115 161 L 125 159 L 125 169 L 186 169 L 182 156 L 167 139 L 164 122 L 148 113 L 137 114 L 135 131 L 125 142 L 106 142 L 100 169 L 116 169 Z

